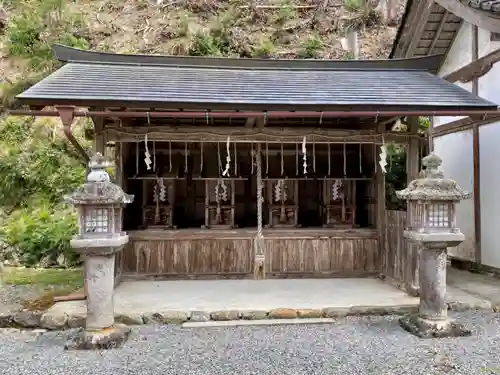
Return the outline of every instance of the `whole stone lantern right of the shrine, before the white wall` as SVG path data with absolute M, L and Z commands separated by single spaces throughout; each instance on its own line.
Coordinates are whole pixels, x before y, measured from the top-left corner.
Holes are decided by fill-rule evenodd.
M 470 330 L 448 318 L 446 305 L 447 248 L 465 236 L 456 226 L 455 206 L 471 197 L 455 181 L 444 178 L 442 160 L 435 154 L 422 159 L 418 179 L 396 192 L 408 203 L 410 222 L 404 237 L 420 246 L 420 307 L 417 314 L 400 319 L 401 326 L 419 337 L 468 336 Z

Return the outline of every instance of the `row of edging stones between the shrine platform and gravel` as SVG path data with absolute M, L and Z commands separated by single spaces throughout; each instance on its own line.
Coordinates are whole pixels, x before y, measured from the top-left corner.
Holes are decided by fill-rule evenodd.
M 500 312 L 500 305 L 492 306 L 488 301 L 475 304 L 448 302 L 451 311 L 489 310 Z M 418 304 L 394 306 L 326 307 L 323 309 L 277 308 L 273 310 L 220 310 L 220 311 L 176 311 L 151 313 L 116 314 L 117 323 L 126 325 L 182 324 L 185 322 L 264 320 L 264 319 L 319 319 L 343 318 L 359 315 L 403 315 L 418 311 Z M 49 312 L 19 311 L 11 315 L 0 315 L 0 328 L 25 328 L 64 330 L 85 326 L 85 315 L 55 314 Z

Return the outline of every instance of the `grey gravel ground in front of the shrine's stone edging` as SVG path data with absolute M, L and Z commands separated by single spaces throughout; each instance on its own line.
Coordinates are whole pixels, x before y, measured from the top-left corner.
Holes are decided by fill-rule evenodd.
M 472 337 L 419 340 L 395 317 L 353 317 L 314 326 L 142 326 L 121 349 L 65 352 L 68 332 L 0 330 L 0 374 L 499 374 L 500 315 L 455 317 Z

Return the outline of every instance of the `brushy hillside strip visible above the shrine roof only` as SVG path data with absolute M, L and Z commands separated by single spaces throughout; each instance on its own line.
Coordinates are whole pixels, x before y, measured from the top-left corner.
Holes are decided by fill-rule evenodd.
M 54 69 L 54 42 L 116 53 L 343 59 L 351 56 L 342 38 L 357 29 L 360 57 L 385 58 L 399 20 L 388 26 L 364 1 L 3 0 L 2 91 Z

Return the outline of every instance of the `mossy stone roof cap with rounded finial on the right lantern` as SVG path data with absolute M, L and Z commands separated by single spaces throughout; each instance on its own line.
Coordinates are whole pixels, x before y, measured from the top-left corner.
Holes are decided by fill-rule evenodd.
M 422 159 L 425 167 L 418 179 L 411 181 L 406 189 L 396 192 L 399 199 L 421 201 L 461 201 L 472 194 L 463 191 L 458 184 L 444 177 L 440 170 L 442 160 L 436 154 Z

